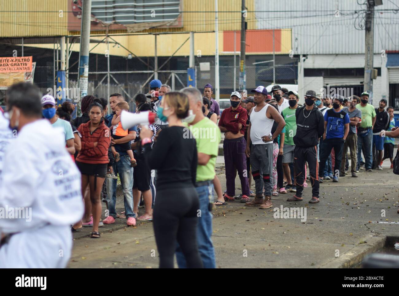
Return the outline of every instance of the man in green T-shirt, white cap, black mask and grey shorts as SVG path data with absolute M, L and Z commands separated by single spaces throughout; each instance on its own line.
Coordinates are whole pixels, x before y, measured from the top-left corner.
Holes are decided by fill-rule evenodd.
M 296 186 L 292 182 L 294 182 L 294 178 L 291 176 L 291 168 L 293 168 L 294 163 L 294 136 L 296 134 L 296 108 L 298 108 L 299 95 L 296 91 L 288 92 L 288 104 L 289 107 L 286 107 L 281 111 L 282 118 L 285 120 L 285 138 L 284 138 L 284 146 L 283 146 L 283 155 L 282 155 L 282 170 L 284 171 L 284 176 L 287 179 L 287 191 L 296 192 Z M 292 172 L 293 173 L 293 172 Z

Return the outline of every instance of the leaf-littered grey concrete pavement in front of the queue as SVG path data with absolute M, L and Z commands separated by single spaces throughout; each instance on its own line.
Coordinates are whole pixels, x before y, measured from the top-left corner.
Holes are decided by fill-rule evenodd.
M 339 183 L 320 184 L 320 203 L 314 205 L 307 202 L 311 198 L 309 186 L 304 189 L 304 201 L 288 202 L 287 197 L 294 193 L 281 194 L 273 198 L 273 208 L 267 210 L 245 207 L 239 201 L 214 208 L 217 267 L 326 268 L 355 264 L 359 254 L 381 246 L 385 235 L 399 236 L 399 176 L 389 165 L 388 160 L 382 171 L 363 170 L 359 178 L 342 177 Z M 224 189 L 224 174 L 219 178 Z M 239 184 L 237 178 L 236 188 Z M 236 189 L 236 195 L 240 193 Z M 123 210 L 122 200 L 118 197 L 118 212 Z M 275 219 L 273 209 L 281 205 L 303 207 L 306 221 Z M 383 210 L 385 217 L 381 217 Z M 87 237 L 91 228 L 75 233 L 69 267 L 158 267 L 152 223 L 142 222 L 136 227 L 124 223 L 117 218 L 115 224 L 101 227 L 101 239 Z

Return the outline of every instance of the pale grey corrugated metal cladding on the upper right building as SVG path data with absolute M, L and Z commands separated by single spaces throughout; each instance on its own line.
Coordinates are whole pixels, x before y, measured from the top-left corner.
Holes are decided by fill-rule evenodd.
M 365 32 L 356 30 L 354 22 L 358 16 L 355 11 L 365 8 L 354 0 L 255 0 L 257 28 L 292 28 L 294 54 L 364 53 Z M 375 7 L 375 10 L 382 9 L 398 7 L 384 1 L 383 5 Z M 363 13 L 359 14 L 362 20 Z M 398 31 L 399 17 L 396 14 L 376 11 L 374 53 L 399 49 Z

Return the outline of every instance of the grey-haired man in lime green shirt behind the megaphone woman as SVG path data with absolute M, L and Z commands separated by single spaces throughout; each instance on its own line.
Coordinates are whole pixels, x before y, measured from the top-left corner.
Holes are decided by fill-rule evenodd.
M 186 120 L 188 130 L 197 142 L 198 166 L 196 176 L 196 190 L 199 198 L 199 210 L 197 216 L 197 243 L 199 254 L 204 268 L 215 268 L 215 250 L 211 240 L 212 235 L 212 204 L 213 204 L 213 180 L 215 174 L 216 156 L 219 151 L 221 134 L 219 127 L 202 112 L 202 95 L 194 87 L 182 89 L 182 93 L 188 96 L 190 110 L 195 115 L 194 120 Z M 190 134 L 189 132 L 185 134 Z M 180 247 L 176 250 L 176 260 L 179 268 L 186 268 L 186 259 Z

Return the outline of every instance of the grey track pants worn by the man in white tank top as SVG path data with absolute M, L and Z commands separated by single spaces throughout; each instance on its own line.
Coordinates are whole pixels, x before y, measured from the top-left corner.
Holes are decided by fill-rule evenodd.
M 265 196 L 271 196 L 273 190 L 273 143 L 251 145 L 252 178 L 255 181 L 256 194 L 262 195 L 265 188 Z

